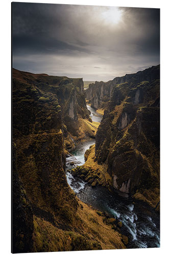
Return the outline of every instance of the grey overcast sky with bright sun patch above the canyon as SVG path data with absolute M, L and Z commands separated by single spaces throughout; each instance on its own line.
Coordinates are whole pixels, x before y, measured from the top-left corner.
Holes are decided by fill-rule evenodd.
M 159 9 L 13 3 L 13 67 L 108 81 L 160 63 Z

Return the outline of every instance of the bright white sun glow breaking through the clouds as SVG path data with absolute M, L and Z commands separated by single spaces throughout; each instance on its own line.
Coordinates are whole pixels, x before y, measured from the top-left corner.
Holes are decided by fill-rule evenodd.
M 102 12 L 102 17 L 106 23 L 118 24 L 122 18 L 122 10 L 118 7 L 108 7 L 104 12 Z

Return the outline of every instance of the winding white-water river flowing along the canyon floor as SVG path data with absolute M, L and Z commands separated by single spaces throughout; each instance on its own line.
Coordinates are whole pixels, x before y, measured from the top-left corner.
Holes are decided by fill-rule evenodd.
M 96 113 L 89 105 L 92 121 L 101 122 L 102 116 Z M 94 144 L 89 140 L 79 144 L 72 155 L 66 156 L 66 170 L 84 164 L 84 153 Z M 70 163 L 74 162 L 74 165 Z M 153 248 L 160 247 L 160 219 L 159 215 L 148 206 L 134 202 L 131 198 L 111 194 L 102 186 L 91 187 L 80 178 L 74 178 L 66 171 L 67 182 L 78 198 L 84 203 L 92 205 L 110 216 L 122 221 L 122 232 L 129 238 L 127 248 Z

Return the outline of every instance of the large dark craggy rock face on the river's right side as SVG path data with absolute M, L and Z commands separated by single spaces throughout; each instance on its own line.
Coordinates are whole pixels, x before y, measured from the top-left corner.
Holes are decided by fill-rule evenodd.
M 109 110 L 96 133 L 95 158 L 107 164 L 114 189 L 155 207 L 159 202 L 159 66 L 112 82 Z

